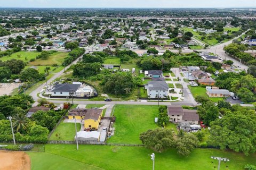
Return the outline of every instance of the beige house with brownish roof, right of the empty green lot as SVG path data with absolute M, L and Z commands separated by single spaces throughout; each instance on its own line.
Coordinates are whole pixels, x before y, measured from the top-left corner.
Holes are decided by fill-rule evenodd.
M 183 109 L 181 106 L 168 106 L 168 115 L 170 122 L 189 122 L 198 124 L 199 116 L 196 110 Z

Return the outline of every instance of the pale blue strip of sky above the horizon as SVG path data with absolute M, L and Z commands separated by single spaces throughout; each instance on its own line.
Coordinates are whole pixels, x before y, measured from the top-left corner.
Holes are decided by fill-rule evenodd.
M 256 0 L 1 0 L 0 7 L 256 7 Z

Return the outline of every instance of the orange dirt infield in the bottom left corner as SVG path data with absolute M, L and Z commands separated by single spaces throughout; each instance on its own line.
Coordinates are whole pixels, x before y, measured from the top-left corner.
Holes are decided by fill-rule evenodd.
M 25 152 L 0 151 L 1 170 L 30 170 L 30 158 Z

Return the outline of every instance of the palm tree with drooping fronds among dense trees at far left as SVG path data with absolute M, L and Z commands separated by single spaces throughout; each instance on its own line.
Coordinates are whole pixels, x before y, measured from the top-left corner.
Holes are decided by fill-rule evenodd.
M 13 117 L 13 121 L 13 128 L 16 128 L 17 132 L 20 129 L 26 130 L 28 128 L 28 117 L 22 112 L 17 113 L 17 115 Z

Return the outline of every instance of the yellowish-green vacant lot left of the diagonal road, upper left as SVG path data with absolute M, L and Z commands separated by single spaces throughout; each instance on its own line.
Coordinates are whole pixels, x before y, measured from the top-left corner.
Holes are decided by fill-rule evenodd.
M 61 65 L 64 58 L 68 56 L 68 53 L 57 52 L 53 53 L 47 60 L 37 59 L 34 62 L 30 62 L 28 65 Z

